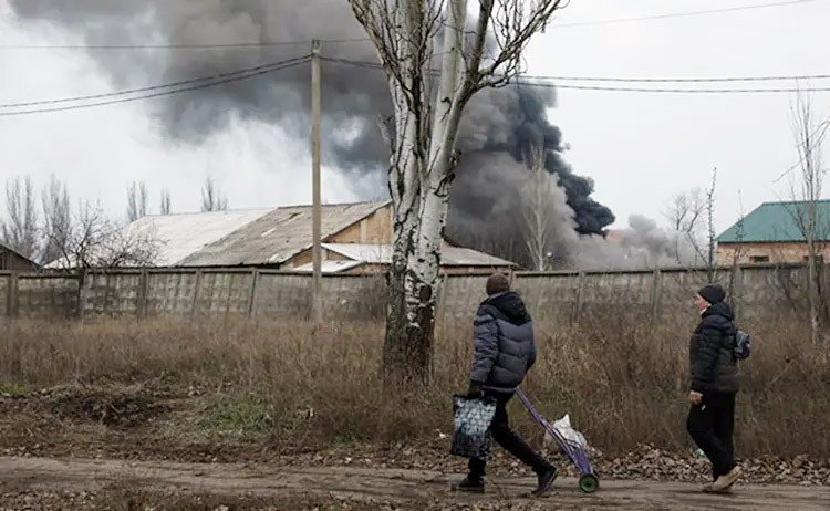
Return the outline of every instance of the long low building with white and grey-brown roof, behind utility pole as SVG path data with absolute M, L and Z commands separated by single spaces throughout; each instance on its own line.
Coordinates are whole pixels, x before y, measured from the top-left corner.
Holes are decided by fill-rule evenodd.
M 156 265 L 260 267 L 310 272 L 312 207 L 148 216 L 129 226 L 159 243 Z M 392 263 L 390 201 L 322 206 L 323 273 L 372 273 Z M 444 273 L 510 270 L 515 264 L 445 241 Z

